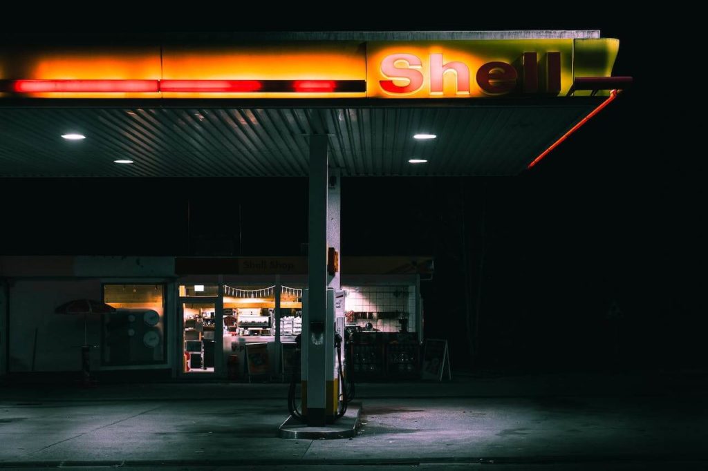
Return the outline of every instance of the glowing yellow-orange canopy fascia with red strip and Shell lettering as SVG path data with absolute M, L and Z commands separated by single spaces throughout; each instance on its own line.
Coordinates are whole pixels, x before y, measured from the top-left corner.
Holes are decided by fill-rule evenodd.
M 618 44 L 549 39 L 4 48 L 0 97 L 565 95 L 573 76 L 609 76 Z

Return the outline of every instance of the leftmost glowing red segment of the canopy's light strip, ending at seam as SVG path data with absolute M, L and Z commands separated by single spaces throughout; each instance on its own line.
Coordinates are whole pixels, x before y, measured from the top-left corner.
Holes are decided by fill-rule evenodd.
M 16 80 L 12 90 L 16 93 L 118 93 L 156 92 L 156 80 Z

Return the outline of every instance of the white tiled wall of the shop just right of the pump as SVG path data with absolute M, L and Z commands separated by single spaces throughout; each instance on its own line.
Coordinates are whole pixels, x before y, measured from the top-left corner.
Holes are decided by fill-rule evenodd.
M 416 330 L 415 286 L 342 286 L 347 292 L 344 309 L 355 313 L 379 313 L 400 311 L 408 313 L 408 330 Z M 382 332 L 397 332 L 401 325 L 398 319 L 358 319 L 362 327 L 371 322 Z

